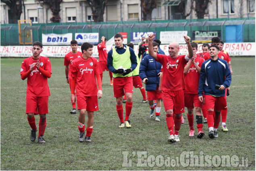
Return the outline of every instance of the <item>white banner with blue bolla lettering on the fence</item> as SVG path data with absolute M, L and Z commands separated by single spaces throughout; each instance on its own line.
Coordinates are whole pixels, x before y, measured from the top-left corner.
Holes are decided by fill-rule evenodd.
M 67 34 L 42 34 L 43 45 L 70 45 L 72 33 Z

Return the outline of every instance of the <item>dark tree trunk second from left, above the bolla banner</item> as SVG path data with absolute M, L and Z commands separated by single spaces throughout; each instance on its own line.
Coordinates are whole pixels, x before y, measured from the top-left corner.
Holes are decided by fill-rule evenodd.
M 43 2 L 52 10 L 52 18 L 50 18 L 50 21 L 52 21 L 52 23 L 59 23 L 60 22 L 60 3 L 62 3 L 63 0 L 38 0 L 38 1 Z

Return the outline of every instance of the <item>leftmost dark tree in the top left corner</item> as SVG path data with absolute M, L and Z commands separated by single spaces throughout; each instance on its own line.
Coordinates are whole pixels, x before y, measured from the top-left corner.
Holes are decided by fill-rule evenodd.
M 22 0 L 1 0 L 10 8 L 10 18 L 9 23 L 18 23 L 18 20 L 21 19 L 22 13 Z

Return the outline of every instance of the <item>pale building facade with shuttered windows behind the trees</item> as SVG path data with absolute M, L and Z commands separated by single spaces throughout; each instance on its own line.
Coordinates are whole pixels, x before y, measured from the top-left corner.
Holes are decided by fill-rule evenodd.
M 186 4 L 185 4 L 186 2 Z M 152 20 L 197 19 L 195 10 L 191 9 L 192 0 L 157 0 L 157 7 L 152 11 Z M 183 6 L 182 6 L 183 4 Z M 196 0 L 193 6 L 196 5 Z M 37 0 L 24 0 L 21 20 L 32 23 L 50 23 L 52 11 Z M 1 24 L 10 21 L 10 8 L 0 4 Z M 63 0 L 60 4 L 62 23 L 85 23 L 93 21 L 92 10 L 86 0 Z M 185 12 L 181 12 L 184 9 Z M 204 14 L 205 19 L 255 17 L 255 0 L 212 0 Z M 141 21 L 142 7 L 140 0 L 108 0 L 104 11 L 104 21 Z

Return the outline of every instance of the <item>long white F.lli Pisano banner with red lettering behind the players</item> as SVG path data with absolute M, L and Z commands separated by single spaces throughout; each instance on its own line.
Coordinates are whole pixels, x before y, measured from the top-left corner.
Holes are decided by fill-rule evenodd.
M 114 46 L 114 45 L 113 45 Z M 112 45 L 107 45 L 107 49 L 110 50 Z M 160 45 L 160 48 L 166 55 L 168 52 L 169 45 Z M 179 55 L 188 54 L 187 44 L 180 44 Z M 255 42 L 249 43 L 225 43 L 223 49 L 225 49 L 229 56 L 255 56 Z M 43 52 L 41 56 L 46 57 L 62 57 L 71 52 L 70 46 L 43 46 Z M 81 52 L 81 47 L 78 46 L 78 51 Z M 134 51 L 138 54 L 139 46 L 134 45 Z M 98 48 L 94 45 L 92 56 L 98 58 Z M 202 52 L 202 44 L 198 44 L 198 53 Z M 32 46 L 1 46 L 0 49 L 1 57 L 29 57 L 32 56 Z

